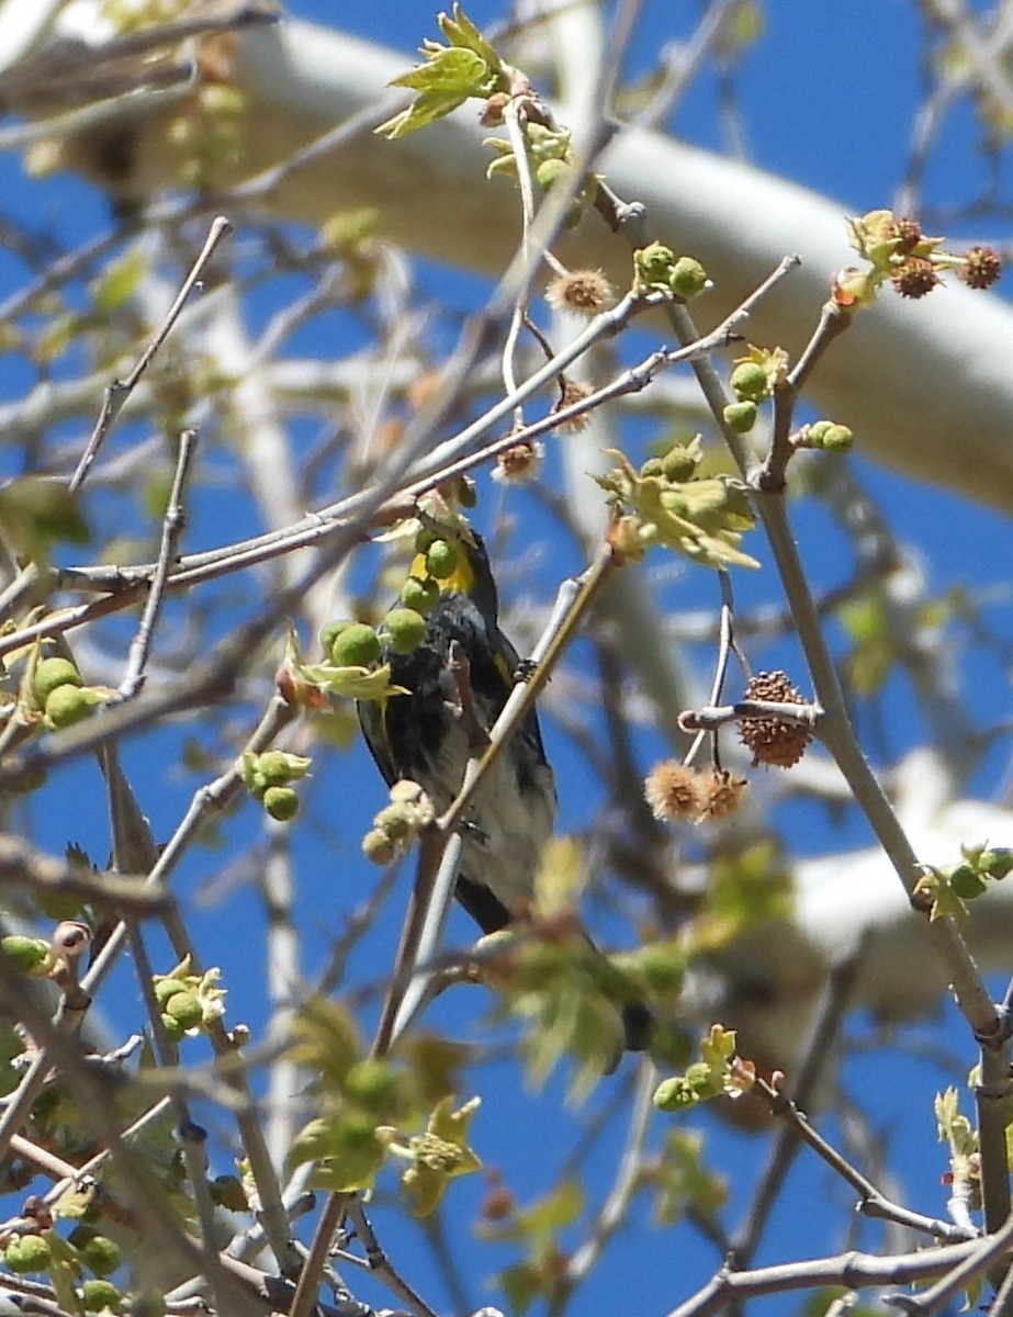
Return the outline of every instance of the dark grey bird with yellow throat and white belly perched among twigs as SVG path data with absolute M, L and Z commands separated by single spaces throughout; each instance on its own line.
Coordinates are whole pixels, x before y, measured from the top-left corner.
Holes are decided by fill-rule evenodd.
M 377 766 L 393 785 L 418 782 L 437 811 L 457 795 L 474 755 L 460 715 L 461 689 L 451 672 L 451 644 L 468 660 L 474 715 L 489 731 L 522 666 L 499 630 L 499 595 L 482 537 L 456 541 L 453 573 L 427 618 L 423 643 L 407 655 L 386 652 L 391 680 L 408 694 L 360 701 L 358 720 Z M 543 847 L 556 819 L 556 780 L 534 709 L 479 785 L 462 832 L 456 897 L 483 932 L 505 928 L 531 906 Z M 652 1018 L 639 1002 L 623 1008 L 626 1046 L 647 1046 Z

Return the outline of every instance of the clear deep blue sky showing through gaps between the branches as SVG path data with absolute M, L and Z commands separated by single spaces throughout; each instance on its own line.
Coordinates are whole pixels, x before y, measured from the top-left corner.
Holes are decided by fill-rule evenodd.
M 419 41 L 435 33 L 435 11 L 418 0 L 410 4 L 304 0 L 291 3 L 288 11 L 298 17 L 341 25 L 358 36 L 395 46 L 404 51 L 406 67 Z M 474 0 L 468 12 L 479 24 L 502 17 L 502 9 L 490 0 Z M 905 166 L 913 115 L 919 97 L 919 28 L 914 4 L 902 0 L 826 0 L 821 4 L 769 0 L 764 12 L 764 34 L 744 55 L 734 78 L 751 161 L 839 198 L 842 215 L 888 205 Z M 686 36 L 696 14 L 696 5 L 673 5 L 671 0 L 647 3 L 631 50 L 630 68 L 644 68 L 660 45 Z M 693 144 L 723 150 L 727 140 L 722 124 L 721 88 L 713 76 L 705 75 L 686 97 L 671 126 Z M 973 142 L 971 116 L 958 111 L 952 126 L 941 140 L 927 174 L 927 195 L 934 204 L 962 205 L 977 195 L 983 167 L 972 151 Z M 105 228 L 101 198 L 74 180 L 54 179 L 30 184 L 21 178 L 16 159 L 0 157 L 0 186 L 4 188 L 0 212 L 14 215 L 26 224 L 51 225 L 67 244 L 82 241 Z M 476 186 L 481 186 L 481 180 L 476 180 Z M 992 217 L 987 223 L 991 227 L 984 233 L 972 230 L 970 225 L 954 228 L 952 232 L 956 237 L 1008 240 L 1008 225 L 1000 227 Z M 0 299 L 16 290 L 22 278 L 22 267 L 0 253 Z M 445 273 L 439 271 L 439 279 L 445 278 Z M 424 290 L 431 290 L 436 282 L 433 271 L 420 273 L 420 286 Z M 482 282 L 474 278 L 452 281 L 448 287 L 449 299 L 462 307 L 473 304 L 482 291 Z M 16 398 L 26 378 L 28 371 L 17 362 L 0 362 L 0 403 Z M 1013 547 L 1006 522 L 942 491 L 917 487 L 881 473 L 862 457 L 856 458 L 856 464 L 869 490 L 889 507 L 897 533 L 923 556 L 937 590 L 967 582 L 981 587 L 1006 586 L 1009 549 Z M 219 533 L 212 536 L 212 543 L 219 543 L 221 525 L 216 523 L 216 516 L 220 515 L 220 511 L 211 508 L 199 510 L 195 533 L 207 535 L 213 529 Z M 833 548 L 826 548 L 826 523 L 818 510 L 804 504 L 798 518 L 800 537 L 809 536 L 806 543 L 814 561 L 814 581 L 819 586 L 829 585 L 843 570 L 843 560 Z M 748 591 L 750 587 L 744 589 Z M 702 606 L 705 598 L 701 594 L 697 605 Z M 1008 598 L 997 599 L 987 616 L 1005 636 L 1008 652 L 1006 670 L 1004 661 L 995 653 L 975 649 L 970 655 L 966 681 L 979 693 L 976 703 L 984 722 L 1002 716 L 1004 711 L 1006 716 L 1009 714 L 1006 676 L 1013 628 Z M 881 715 L 884 726 L 877 727 L 876 720 L 869 716 L 867 731 L 880 738 L 889 751 L 897 753 L 922 739 L 916 701 L 904 682 L 890 687 L 889 702 L 883 706 Z M 588 822 L 588 813 L 582 807 L 586 770 L 573 757 L 569 741 L 559 728 L 547 728 L 547 741 L 560 772 L 564 826 L 582 826 Z M 177 748 L 171 734 L 166 745 L 163 755 L 169 760 Z M 657 738 L 645 735 L 644 766 L 649 764 L 649 756 L 656 748 Z M 145 745 L 128 747 L 125 752 L 128 769 L 142 790 L 149 781 L 155 780 L 149 756 L 150 751 Z M 983 759 L 973 780 L 975 792 L 981 795 L 995 792 L 1006 764 L 1008 751 L 999 743 Z M 349 773 L 350 777 L 346 776 Z M 299 910 L 308 930 L 308 972 L 319 967 L 336 919 L 368 894 L 371 874 L 364 872 L 358 861 L 357 838 L 369 815 L 382 802 L 378 778 L 374 780 L 370 774 L 371 766 L 365 755 L 358 752 L 350 768 L 345 757 L 336 757 L 335 763 L 321 765 L 315 781 L 307 788 L 317 807 L 321 801 L 327 801 L 328 793 L 333 793 L 337 802 L 336 817 L 324 828 L 317 826 L 315 831 L 298 834 L 294 843 Z M 352 794 L 358 793 L 348 792 L 349 780 L 357 786 L 375 781 L 375 790 L 352 799 Z M 65 785 L 74 782 L 94 785 L 84 769 L 79 773 L 75 770 L 75 774 L 68 774 L 65 780 Z M 178 778 L 162 782 L 157 792 L 151 790 L 145 797 L 145 807 L 159 835 L 175 824 L 195 785 L 196 778 Z M 75 830 L 74 838 L 86 842 L 96 857 L 101 857 L 107 846 L 101 817 L 74 818 L 72 814 L 61 814 L 45 819 L 42 832 L 50 838 L 54 849 L 66 840 L 63 834 L 68 817 Z M 785 826 L 792 826 L 792 818 L 793 815 L 786 815 Z M 238 820 L 227 820 L 223 832 L 238 846 L 242 844 L 241 838 L 249 836 L 250 826 L 256 827 L 256 819 L 252 820 L 248 810 Z M 835 844 L 848 843 L 864 843 L 863 831 L 854 824 L 850 830 L 835 834 Z M 805 849 L 806 842 L 802 840 L 800 847 Z M 814 842 L 813 848 L 823 847 L 821 842 Z M 220 864 L 224 864 L 224 855 L 204 855 L 195 861 L 184 874 L 187 897 L 205 889 Z M 228 939 L 231 946 L 224 948 L 223 959 L 233 976 L 233 1000 L 240 1001 L 244 989 L 249 989 L 261 972 L 257 957 L 263 910 L 260 900 L 242 890 L 229 894 L 224 905 L 207 913 L 203 927 L 209 956 L 217 954 L 223 926 L 229 932 L 236 932 Z M 454 927 L 460 936 L 466 935 L 464 923 Z M 369 957 L 382 956 L 395 932 L 397 919 L 391 914 L 366 944 L 364 961 L 368 964 Z M 212 947 L 216 948 L 215 952 Z M 249 947 L 257 948 L 253 955 Z M 358 969 L 362 972 L 364 964 Z M 129 988 L 125 992 L 129 997 Z M 472 1025 L 479 1011 L 481 1005 L 469 1001 L 465 1014 Z M 436 1018 L 448 1021 L 452 1027 L 457 1022 L 453 1005 L 441 1004 Z M 868 1031 L 871 1025 L 859 1021 L 856 1030 Z M 913 1038 L 922 1036 L 917 1027 L 910 1034 Z M 931 1090 L 943 1083 L 960 1083 L 973 1055 L 968 1039 L 954 1021 L 950 1021 L 942 1034 L 934 1035 L 934 1042 L 952 1048 L 954 1064 L 948 1068 L 918 1059 L 912 1050 L 890 1054 L 873 1051 L 871 1058 L 850 1063 L 847 1077 L 852 1092 L 867 1105 L 875 1133 L 879 1135 L 889 1131 L 892 1163 L 898 1169 L 908 1201 L 926 1212 L 942 1214 L 946 1191 L 939 1184 L 939 1176 L 945 1169 L 945 1158 L 934 1144 L 929 1098 Z M 562 1079 L 551 1081 L 541 1094 L 522 1092 L 516 1072 L 502 1065 L 490 1067 L 487 1075 L 479 1072 L 478 1079 L 486 1100 L 476 1123 L 477 1146 L 489 1164 L 503 1168 L 524 1201 L 544 1192 L 552 1181 L 560 1150 L 572 1138 L 573 1122 L 589 1122 L 595 1112 L 607 1106 L 620 1092 L 619 1085 L 624 1081 L 622 1076 L 607 1081 L 590 1108 L 574 1115 L 564 1108 Z M 748 1184 L 763 1164 L 765 1144 L 715 1123 L 706 1114 L 701 1125 L 711 1141 L 709 1155 L 730 1180 L 732 1200 L 744 1204 Z M 593 1195 L 607 1192 L 622 1131 L 620 1119 L 615 1131 L 588 1160 L 588 1185 Z M 842 1131 L 831 1126 L 830 1133 L 839 1137 Z M 476 1305 L 498 1301 L 495 1293 L 490 1295 L 482 1288 L 483 1277 L 511 1260 L 508 1247 L 477 1243 L 468 1233 L 468 1220 L 482 1192 L 479 1180 L 461 1181 L 452 1191 L 447 1213 L 448 1239 L 452 1250 L 461 1258 L 469 1297 Z M 385 1214 L 382 1205 L 377 1212 L 381 1227 L 387 1222 L 391 1230 L 391 1234 L 382 1235 L 382 1242 L 398 1266 L 437 1308 L 449 1310 L 429 1245 L 422 1234 L 403 1233 Z M 732 1209 L 730 1220 L 735 1221 L 736 1214 Z M 842 1242 L 842 1223 L 848 1220 L 844 1191 L 830 1181 L 821 1168 L 802 1158 L 789 1181 L 785 1201 L 775 1217 L 760 1260 L 797 1258 L 800 1249 L 809 1256 L 835 1250 Z M 804 1222 L 801 1238 L 800 1222 Z M 572 1241 L 578 1238 L 574 1234 Z M 875 1242 L 876 1233 L 867 1230 L 863 1238 Z M 609 1312 L 622 1305 L 638 1314 L 664 1313 L 702 1283 L 719 1260 L 715 1251 L 701 1245 L 698 1237 L 686 1227 L 677 1233 L 656 1231 L 649 1223 L 645 1205 L 640 1204 L 586 1291 L 577 1296 L 576 1309 Z M 348 1279 L 357 1285 L 354 1275 Z M 364 1289 L 362 1296 L 381 1304 L 386 1301 L 379 1291 Z M 779 1310 L 784 1310 L 782 1301 L 779 1304 Z

